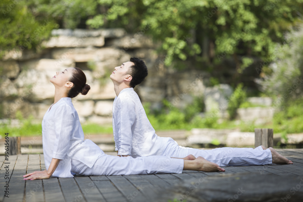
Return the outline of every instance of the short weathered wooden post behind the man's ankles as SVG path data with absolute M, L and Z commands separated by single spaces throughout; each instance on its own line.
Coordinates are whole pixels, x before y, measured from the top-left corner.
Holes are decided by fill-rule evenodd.
M 272 128 L 255 128 L 255 147 L 263 145 L 264 147 L 274 146 L 274 130 Z

